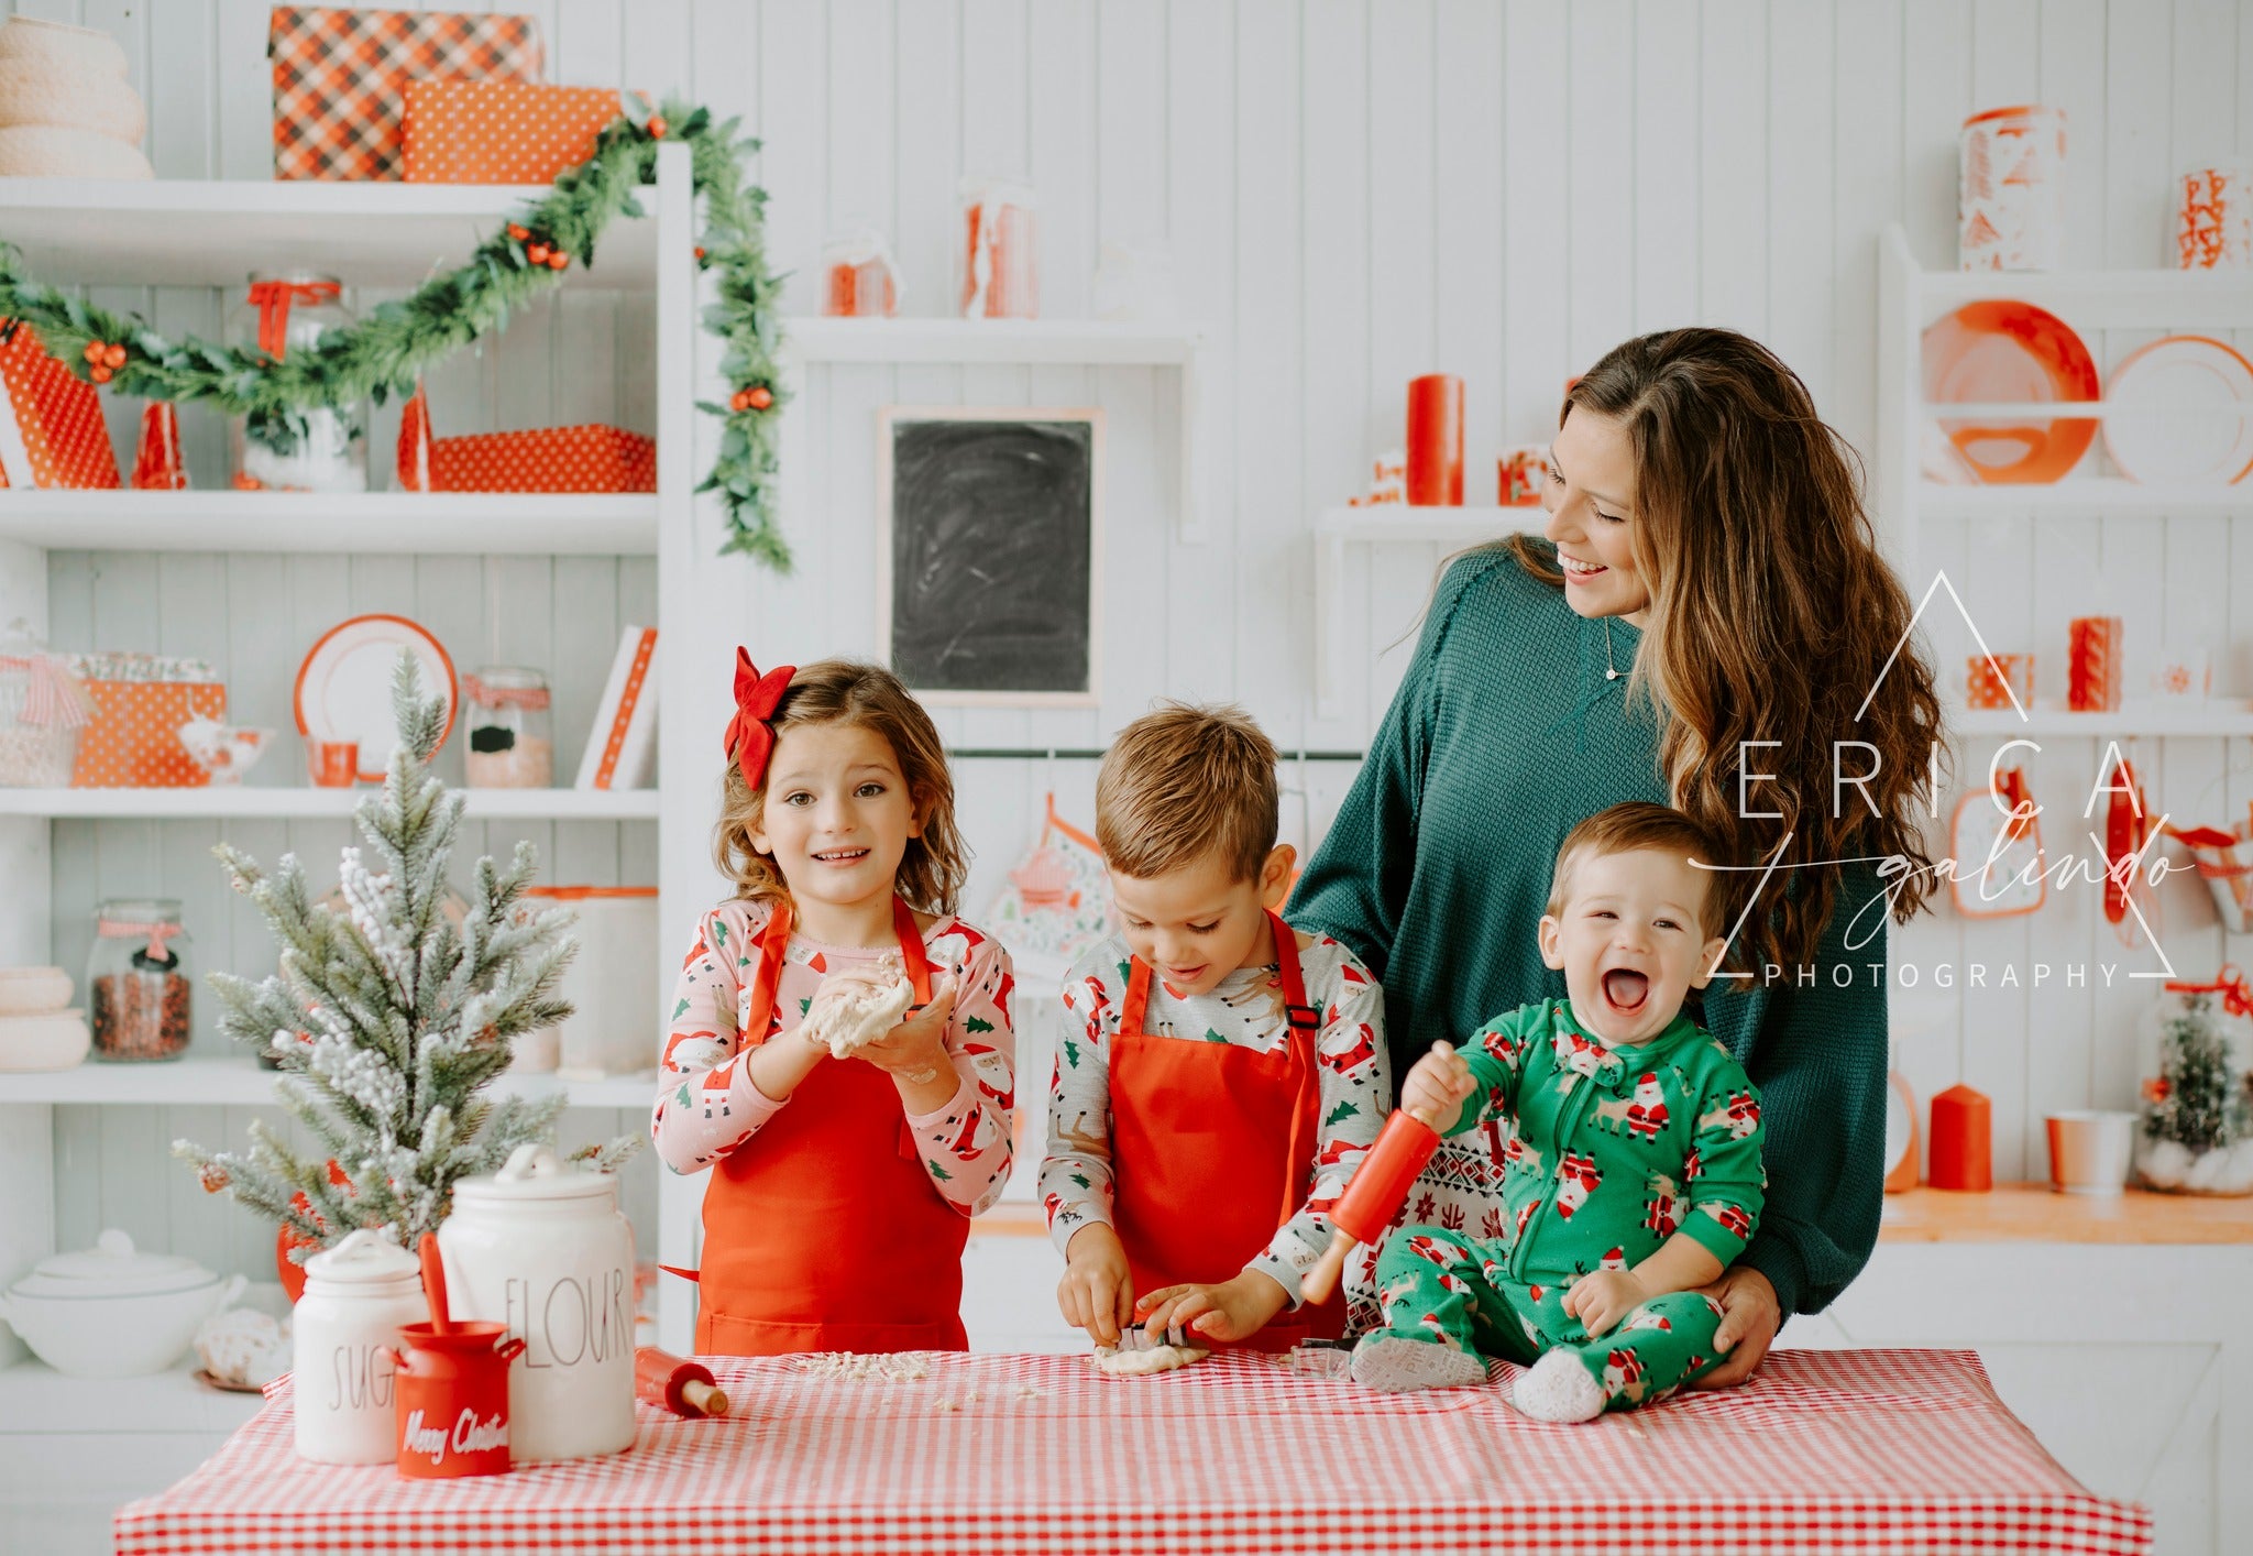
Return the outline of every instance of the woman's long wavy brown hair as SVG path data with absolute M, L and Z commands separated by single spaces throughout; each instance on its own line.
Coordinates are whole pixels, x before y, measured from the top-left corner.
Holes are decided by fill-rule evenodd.
M 1773 879 L 1796 884 L 1762 893 L 1744 949 L 1780 967 L 1814 963 L 1841 877 L 1809 868 L 1818 859 L 1906 859 L 1886 888 L 1908 922 L 1933 891 L 1920 805 L 1940 699 L 1924 654 L 1904 643 L 1913 609 L 1877 550 L 1852 447 L 1775 352 L 1733 329 L 1627 341 L 1570 388 L 1559 426 L 1575 408 L 1618 422 L 1633 449 L 1631 539 L 1651 604 L 1631 690 L 1663 710 L 1672 803 L 1728 864 L 1762 864 L 1791 834 Z M 1564 589 L 1546 541 L 1505 546 Z M 1755 740 L 1778 744 L 1746 746 Z M 1836 814 L 1834 760 L 1847 780 L 1874 764 L 1863 789 L 1838 792 Z M 1744 810 L 1780 821 L 1739 816 L 1739 767 L 1775 773 L 1748 787 Z M 1735 879 L 1730 918 L 1757 879 Z

